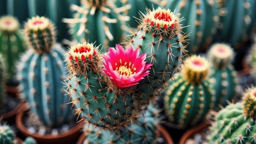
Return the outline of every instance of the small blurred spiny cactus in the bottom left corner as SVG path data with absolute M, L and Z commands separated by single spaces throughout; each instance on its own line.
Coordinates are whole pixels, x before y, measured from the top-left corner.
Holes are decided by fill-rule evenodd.
M 8 125 L 0 125 L 0 143 L 13 144 L 14 131 Z

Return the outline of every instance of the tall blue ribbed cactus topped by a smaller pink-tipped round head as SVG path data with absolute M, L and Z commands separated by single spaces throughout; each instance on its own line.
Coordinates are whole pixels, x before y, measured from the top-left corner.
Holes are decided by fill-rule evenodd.
M 30 49 L 22 56 L 19 80 L 22 96 L 43 124 L 58 127 L 72 116 L 69 97 L 64 97 L 64 50 L 55 43 L 52 23 L 45 17 L 32 17 L 25 24 Z

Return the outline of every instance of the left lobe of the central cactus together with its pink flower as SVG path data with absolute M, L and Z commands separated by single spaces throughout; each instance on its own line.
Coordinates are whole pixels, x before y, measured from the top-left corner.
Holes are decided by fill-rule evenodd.
M 134 92 L 137 83 L 149 74 L 151 64 L 146 64 L 145 54 L 139 56 L 139 49 L 124 50 L 117 45 L 109 50 L 102 62 L 102 54 L 93 44 L 84 42 L 70 47 L 66 85 L 76 114 L 94 127 L 115 130 L 137 116 L 141 106 Z

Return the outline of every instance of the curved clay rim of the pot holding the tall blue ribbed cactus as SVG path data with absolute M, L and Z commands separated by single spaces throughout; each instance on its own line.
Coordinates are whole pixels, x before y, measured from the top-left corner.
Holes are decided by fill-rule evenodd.
M 39 133 L 31 133 L 30 131 L 28 131 L 25 125 L 23 125 L 23 122 L 22 122 L 22 118 L 27 110 L 28 110 L 27 104 L 23 104 L 23 106 L 20 107 L 19 113 L 17 113 L 17 116 L 16 116 L 16 126 L 25 136 L 31 136 L 31 137 L 34 137 L 34 139 L 61 139 L 63 137 L 69 136 L 70 133 L 75 133 L 76 131 L 80 131 L 84 125 L 83 122 L 78 122 L 70 130 L 64 133 L 56 134 L 56 135 L 52 135 L 52 134 L 41 135 Z

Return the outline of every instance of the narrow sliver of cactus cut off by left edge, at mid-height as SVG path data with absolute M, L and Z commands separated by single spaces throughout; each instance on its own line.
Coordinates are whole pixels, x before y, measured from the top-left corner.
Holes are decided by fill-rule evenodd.
M 4 105 L 5 97 L 5 61 L 0 54 L 0 108 Z

